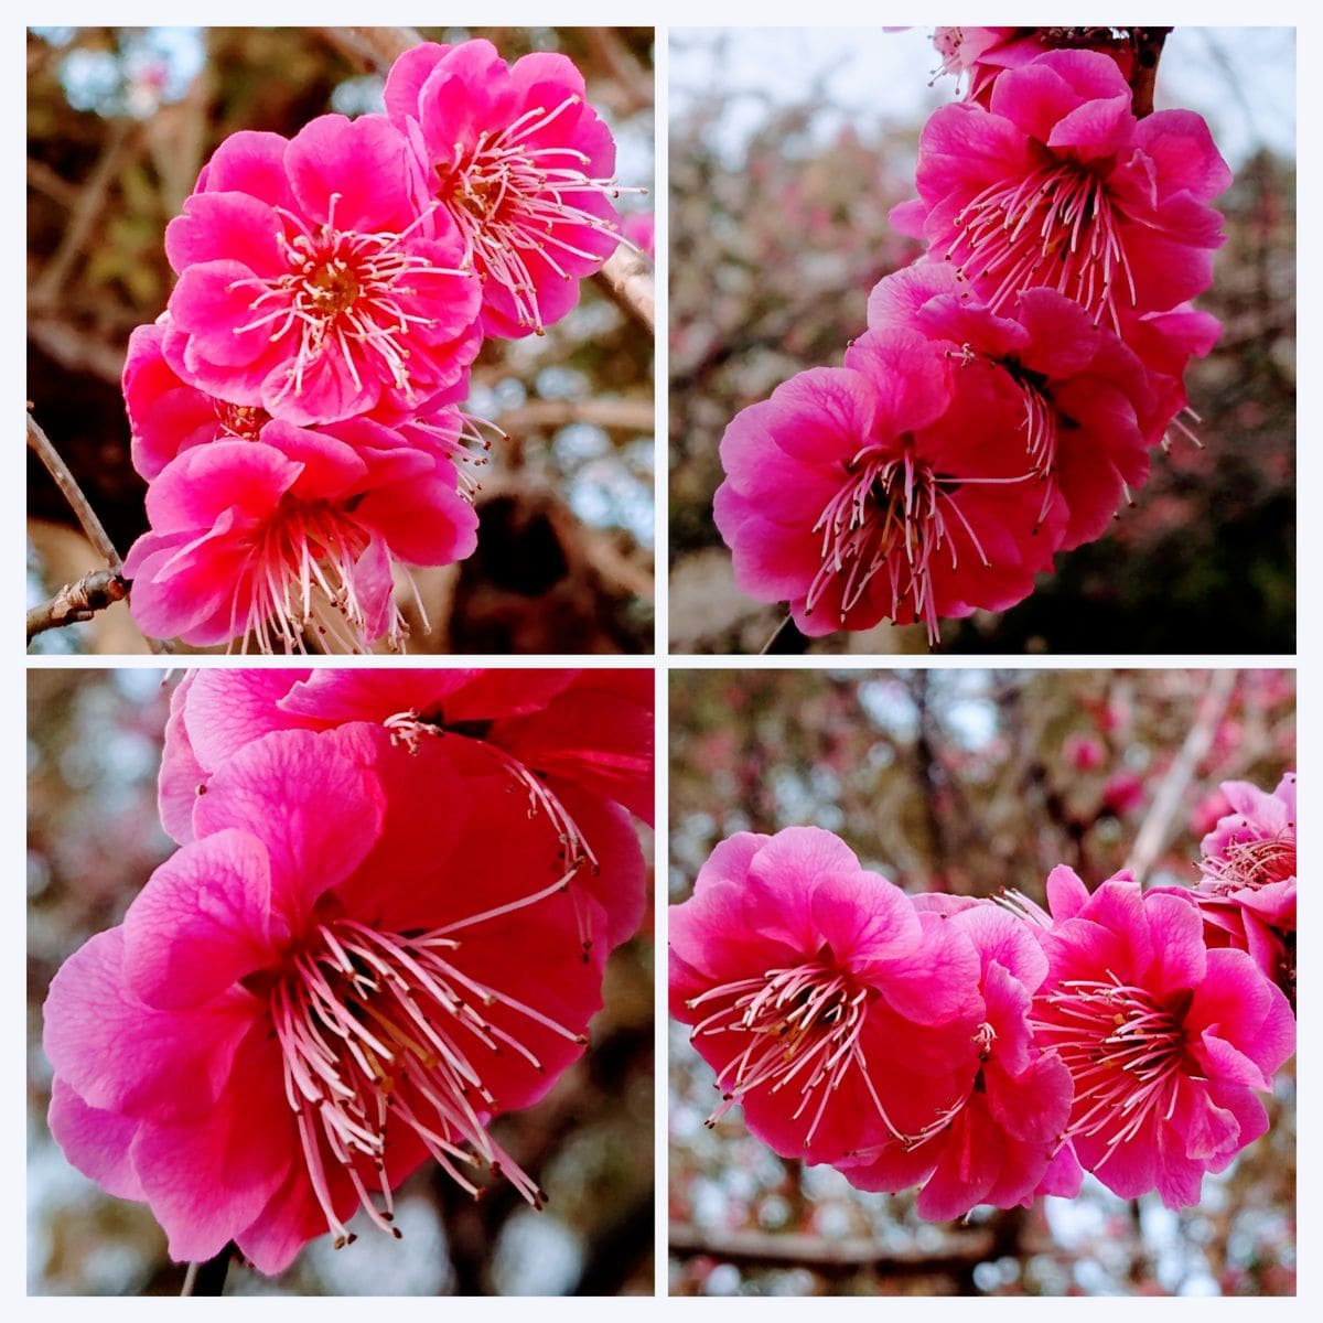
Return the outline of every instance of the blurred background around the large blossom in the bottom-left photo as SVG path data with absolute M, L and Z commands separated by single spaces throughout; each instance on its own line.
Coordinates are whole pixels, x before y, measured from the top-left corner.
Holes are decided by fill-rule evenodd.
M 111 1199 L 46 1130 L 41 1004 L 60 964 L 118 923 L 175 848 L 156 812 L 173 683 L 155 669 L 30 671 L 28 722 L 28 1291 L 177 1295 L 184 1265 L 144 1204 Z M 646 827 L 644 851 L 651 857 Z M 651 1295 L 654 1278 L 651 931 L 607 964 L 587 1053 L 536 1107 L 492 1132 L 542 1185 L 474 1203 L 435 1163 L 396 1203 L 402 1241 L 360 1215 L 344 1250 L 311 1242 L 278 1278 L 232 1266 L 226 1295 Z

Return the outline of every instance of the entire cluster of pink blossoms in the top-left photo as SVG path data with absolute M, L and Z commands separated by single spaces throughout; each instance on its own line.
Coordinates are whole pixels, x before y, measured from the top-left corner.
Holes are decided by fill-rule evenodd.
M 565 56 L 427 42 L 385 103 L 233 134 L 165 232 L 179 283 L 123 380 L 152 636 L 402 647 L 393 569 L 476 545 L 483 337 L 541 333 L 620 243 L 615 144 Z

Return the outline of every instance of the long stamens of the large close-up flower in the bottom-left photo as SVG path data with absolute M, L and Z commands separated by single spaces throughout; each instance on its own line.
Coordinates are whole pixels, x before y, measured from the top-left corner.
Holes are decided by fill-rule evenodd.
M 353 1185 L 368 1216 L 392 1228 L 388 1132 L 411 1130 L 441 1167 L 475 1197 L 470 1175 L 507 1176 L 534 1208 L 537 1184 L 487 1132 L 500 1101 L 483 1082 L 482 1052 L 511 1052 L 541 1073 L 537 1054 L 491 1013 L 537 1024 L 583 1044 L 586 1036 L 464 974 L 454 934 L 486 918 L 536 904 L 565 878 L 512 905 L 429 933 L 382 933 L 353 919 L 318 926 L 270 988 L 271 1019 L 284 1061 L 284 1093 L 295 1114 L 308 1177 L 335 1236 L 353 1240 L 336 1216 L 329 1174 Z M 466 1171 L 468 1174 L 466 1174 Z M 369 1189 L 380 1191 L 378 1209 Z

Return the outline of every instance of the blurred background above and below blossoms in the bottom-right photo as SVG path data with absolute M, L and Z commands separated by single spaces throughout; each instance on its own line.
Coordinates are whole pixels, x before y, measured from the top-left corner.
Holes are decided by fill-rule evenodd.
M 717 841 L 814 823 L 908 892 L 991 896 L 1069 864 L 1196 880 L 1218 782 L 1295 767 L 1291 671 L 672 671 L 671 901 Z M 1197 1208 L 1078 1199 L 930 1224 L 912 1195 L 778 1158 L 669 1036 L 669 1244 L 681 1295 L 1291 1295 L 1295 1074 Z

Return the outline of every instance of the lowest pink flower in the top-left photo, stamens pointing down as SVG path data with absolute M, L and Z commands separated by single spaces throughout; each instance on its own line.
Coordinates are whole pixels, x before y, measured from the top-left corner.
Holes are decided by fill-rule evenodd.
M 340 437 L 267 422 L 258 441 L 185 450 L 147 492 L 152 528 L 132 546 L 134 619 L 153 638 L 263 652 L 402 646 L 394 560 L 468 556 L 476 516 L 454 468 L 366 419 Z

